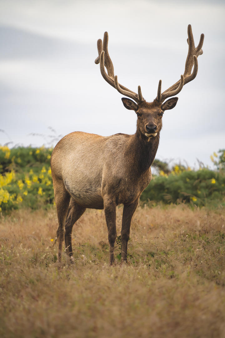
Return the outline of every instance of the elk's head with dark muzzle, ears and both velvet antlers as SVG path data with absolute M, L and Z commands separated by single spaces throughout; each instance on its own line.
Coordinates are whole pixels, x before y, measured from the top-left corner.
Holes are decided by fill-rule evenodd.
M 135 93 L 118 83 L 117 75 L 114 75 L 113 63 L 108 52 L 108 33 L 105 32 L 103 42 L 101 39 L 97 41 L 99 56 L 95 59 L 95 64 L 100 63 L 101 74 L 112 87 L 117 89 L 117 91 L 122 95 L 132 99 L 123 97 L 123 105 L 129 110 L 134 110 L 137 114 L 137 130 L 141 133 L 141 135 L 144 135 L 146 140 L 158 135 L 162 128 L 162 117 L 164 111 L 175 107 L 178 97 L 172 96 L 177 95 L 186 83 L 192 81 L 196 77 L 198 71 L 197 57 L 203 53 L 201 49 L 203 40 L 204 34 L 201 34 L 199 44 L 195 47 L 191 25 L 188 25 L 187 41 L 189 48 L 184 74 L 180 76 L 180 79 L 176 83 L 163 93 L 161 93 L 162 80 L 160 80 L 157 97 L 153 100 L 153 102 L 145 101 L 142 96 L 140 86 L 138 86 L 138 93 Z M 107 73 L 105 68 L 107 69 Z M 172 98 L 164 102 L 169 97 Z

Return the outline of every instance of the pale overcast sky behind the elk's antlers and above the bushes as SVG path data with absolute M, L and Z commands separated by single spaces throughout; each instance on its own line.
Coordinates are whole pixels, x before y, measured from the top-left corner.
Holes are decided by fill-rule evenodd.
M 119 82 L 151 102 L 159 79 L 164 91 L 184 72 L 190 23 L 195 45 L 205 34 L 198 74 L 165 112 L 156 158 L 211 165 L 225 148 L 224 17 L 224 1 L 0 0 L 0 144 L 134 134 L 135 112 L 94 64 L 97 39 L 108 31 Z

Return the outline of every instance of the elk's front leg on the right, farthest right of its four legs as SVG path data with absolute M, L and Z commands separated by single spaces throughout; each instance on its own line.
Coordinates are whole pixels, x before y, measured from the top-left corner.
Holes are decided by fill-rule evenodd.
M 138 206 L 139 197 L 130 204 L 124 204 L 122 227 L 121 227 L 121 263 L 126 262 L 127 259 L 127 247 L 130 236 L 131 219 Z

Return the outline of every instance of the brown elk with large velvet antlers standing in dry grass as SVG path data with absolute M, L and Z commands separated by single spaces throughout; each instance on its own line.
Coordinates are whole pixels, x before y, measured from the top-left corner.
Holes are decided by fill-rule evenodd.
M 127 260 L 127 246 L 132 216 L 142 191 L 151 180 L 151 164 L 159 146 L 162 117 L 175 107 L 177 95 L 192 81 L 198 71 L 197 57 L 201 55 L 204 34 L 197 47 L 191 25 L 188 25 L 188 55 L 184 74 L 171 87 L 161 93 L 159 81 L 157 97 L 147 102 L 138 93 L 118 83 L 108 52 L 108 33 L 103 42 L 97 41 L 98 57 L 103 78 L 119 93 L 123 105 L 137 115 L 134 135 L 115 134 L 103 137 L 75 131 L 63 137 L 51 156 L 51 170 L 58 216 L 58 261 L 62 258 L 63 237 L 68 265 L 73 262 L 72 229 L 86 208 L 104 209 L 109 240 L 109 264 L 114 263 L 116 233 L 116 206 L 123 204 L 121 227 L 121 262 Z M 106 72 L 106 70 L 107 72 Z M 192 71 L 193 68 L 193 71 Z M 169 98 L 170 97 L 170 98 Z M 168 99 L 169 98 L 169 99 Z M 168 99 L 167 101 L 165 101 Z M 164 102 L 165 101 L 165 102 Z

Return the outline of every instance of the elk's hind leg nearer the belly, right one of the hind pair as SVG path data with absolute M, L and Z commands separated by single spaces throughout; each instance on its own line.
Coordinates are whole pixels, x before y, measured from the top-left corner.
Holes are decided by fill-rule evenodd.
M 69 209 L 65 222 L 65 250 L 67 264 L 73 262 L 73 249 L 72 249 L 72 229 L 74 223 L 83 215 L 86 208 L 79 206 L 73 198 L 69 203 Z

